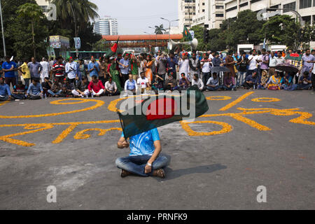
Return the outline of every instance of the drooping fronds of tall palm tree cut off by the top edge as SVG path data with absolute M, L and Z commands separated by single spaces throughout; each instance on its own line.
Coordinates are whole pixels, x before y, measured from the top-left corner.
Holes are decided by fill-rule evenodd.
M 56 5 L 57 18 L 62 22 L 69 23 L 69 18 L 74 20 L 73 13 L 81 24 L 99 18 L 97 5 L 88 0 L 52 0 L 52 3 Z

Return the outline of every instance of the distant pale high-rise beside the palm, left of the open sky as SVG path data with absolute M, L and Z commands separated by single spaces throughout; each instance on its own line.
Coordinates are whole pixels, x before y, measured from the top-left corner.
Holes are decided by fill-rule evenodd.
M 94 33 L 101 35 L 118 35 L 118 21 L 106 16 L 94 23 Z

